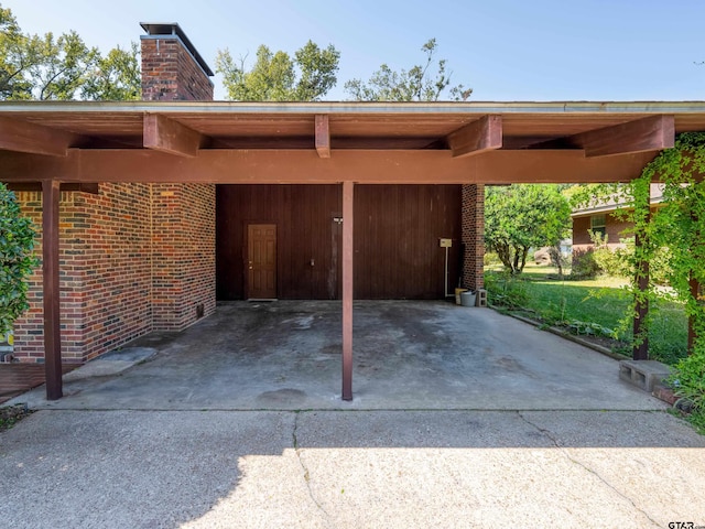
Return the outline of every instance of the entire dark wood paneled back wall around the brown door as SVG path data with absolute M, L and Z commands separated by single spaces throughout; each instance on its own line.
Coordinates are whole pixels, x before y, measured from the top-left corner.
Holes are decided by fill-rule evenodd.
M 452 238 L 449 289 L 460 258 L 458 185 L 355 186 L 355 298 L 442 299 Z M 247 299 L 248 224 L 278 226 L 278 298 L 339 299 L 339 185 L 219 185 L 217 294 Z M 313 260 L 313 266 L 312 266 Z

